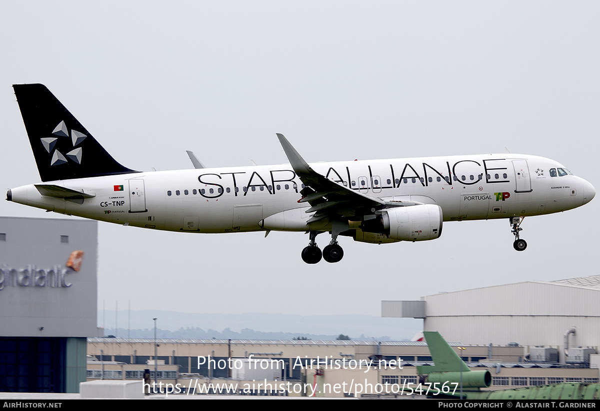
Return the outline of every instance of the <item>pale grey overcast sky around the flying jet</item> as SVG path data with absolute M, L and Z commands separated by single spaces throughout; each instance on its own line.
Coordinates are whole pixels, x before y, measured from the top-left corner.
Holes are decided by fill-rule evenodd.
M 46 84 L 134 170 L 191 168 L 185 150 L 281 164 L 281 132 L 307 161 L 508 147 L 600 187 L 598 1 L 2 2 L 0 37 L 1 188 L 40 179 L 14 83 Z M 448 222 L 421 243 L 342 238 L 344 259 L 314 266 L 304 234 L 99 223 L 98 304 L 379 315 L 381 300 L 598 274 L 599 211 L 527 218 L 522 253 L 506 220 Z

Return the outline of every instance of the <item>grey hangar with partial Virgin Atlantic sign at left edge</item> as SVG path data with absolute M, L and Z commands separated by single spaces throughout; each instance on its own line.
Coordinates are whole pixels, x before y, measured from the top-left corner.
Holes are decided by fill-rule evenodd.
M 97 249 L 95 221 L 0 217 L 0 392 L 79 392 Z

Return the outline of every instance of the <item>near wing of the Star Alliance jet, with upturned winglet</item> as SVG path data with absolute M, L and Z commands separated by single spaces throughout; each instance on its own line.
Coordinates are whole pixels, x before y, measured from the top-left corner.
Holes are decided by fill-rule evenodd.
M 331 215 L 343 217 L 364 216 L 373 214 L 373 208 L 379 210 L 385 207 L 401 207 L 419 203 L 408 201 L 384 201 L 380 198 L 362 194 L 356 190 L 347 188 L 340 183 L 327 179 L 322 174 L 314 171 L 296 149 L 287 141 L 283 134 L 277 133 L 277 137 L 286 152 L 293 170 L 306 186 L 300 194 L 302 198 L 298 203 L 311 205 L 307 213 L 316 213 L 307 222 L 321 220 Z

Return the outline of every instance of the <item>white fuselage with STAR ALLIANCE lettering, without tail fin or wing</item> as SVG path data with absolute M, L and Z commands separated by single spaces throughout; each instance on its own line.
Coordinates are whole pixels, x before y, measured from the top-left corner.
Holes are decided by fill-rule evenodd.
M 491 154 L 311 164 L 317 173 L 369 197 L 437 204 L 443 220 L 534 216 L 579 207 L 595 189 L 551 159 Z M 144 228 L 190 232 L 308 231 L 302 182 L 289 164 L 154 171 L 44 184 L 94 195 L 41 195 L 34 185 L 12 201 L 58 213 Z M 280 214 L 281 213 L 281 214 Z M 281 218 L 268 219 L 269 216 Z M 263 221 L 265 220 L 265 221 Z M 269 221 L 271 222 L 269 225 Z M 311 226 L 328 231 L 328 220 Z

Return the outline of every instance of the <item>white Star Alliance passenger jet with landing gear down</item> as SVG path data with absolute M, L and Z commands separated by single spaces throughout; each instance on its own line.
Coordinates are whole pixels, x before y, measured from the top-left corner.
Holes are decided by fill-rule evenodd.
M 434 240 L 442 223 L 508 219 L 514 248 L 526 216 L 588 203 L 593 186 L 558 162 L 530 155 L 307 164 L 277 134 L 290 164 L 140 172 L 115 161 L 41 84 L 15 85 L 42 183 L 7 200 L 122 225 L 183 232 L 304 231 L 302 259 L 337 262 L 338 237 L 382 244 Z M 317 234 L 331 232 L 323 249 Z

